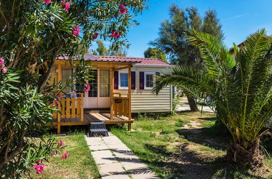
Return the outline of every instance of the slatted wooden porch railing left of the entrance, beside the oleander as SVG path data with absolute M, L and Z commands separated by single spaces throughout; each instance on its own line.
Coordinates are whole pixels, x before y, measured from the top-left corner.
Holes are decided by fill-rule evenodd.
M 63 97 L 57 108 L 61 111 L 59 113 L 54 113 L 54 117 L 57 118 L 57 122 L 61 122 L 62 118 L 80 118 L 83 122 L 83 93 L 69 93 L 67 95 L 74 95 L 74 97 Z

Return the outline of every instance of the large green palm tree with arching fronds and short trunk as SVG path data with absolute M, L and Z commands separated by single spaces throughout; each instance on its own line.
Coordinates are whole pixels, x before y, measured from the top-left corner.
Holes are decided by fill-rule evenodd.
M 186 38 L 200 50 L 203 68 L 167 69 L 153 92 L 158 94 L 172 84 L 181 86 L 194 98 L 209 96 L 216 103 L 212 109 L 232 136 L 227 155 L 237 164 L 262 167 L 260 138 L 272 116 L 271 38 L 261 29 L 247 37 L 243 48 L 234 44 L 234 53 L 208 34 L 192 30 Z

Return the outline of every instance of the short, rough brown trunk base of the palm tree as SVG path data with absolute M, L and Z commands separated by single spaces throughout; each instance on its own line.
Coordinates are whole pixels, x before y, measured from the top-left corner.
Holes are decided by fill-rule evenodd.
M 264 157 L 260 154 L 260 142 L 255 144 L 245 143 L 247 143 L 246 148 L 238 143 L 231 143 L 227 150 L 228 159 L 252 170 L 263 167 Z

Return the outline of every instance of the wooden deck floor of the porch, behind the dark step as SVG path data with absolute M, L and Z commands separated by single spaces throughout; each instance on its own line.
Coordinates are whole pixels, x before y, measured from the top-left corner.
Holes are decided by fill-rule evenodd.
M 128 120 L 128 117 L 113 117 L 110 120 L 109 113 L 84 113 L 84 120 L 81 122 L 80 118 L 62 118 L 61 126 L 71 125 L 89 125 L 90 122 L 104 122 L 105 124 L 120 124 L 120 123 L 133 123 L 133 119 Z M 54 126 L 57 126 L 57 119 L 53 122 Z

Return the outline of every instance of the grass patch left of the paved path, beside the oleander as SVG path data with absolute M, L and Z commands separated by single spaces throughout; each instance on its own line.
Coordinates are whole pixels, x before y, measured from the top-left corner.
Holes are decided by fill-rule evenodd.
M 91 156 L 83 132 L 71 133 L 66 137 L 57 137 L 66 146 L 63 152 L 68 152 L 68 159 L 60 159 L 61 155 L 51 156 L 49 163 L 45 162 L 42 174 L 31 170 L 32 178 L 100 178 L 98 168 Z

